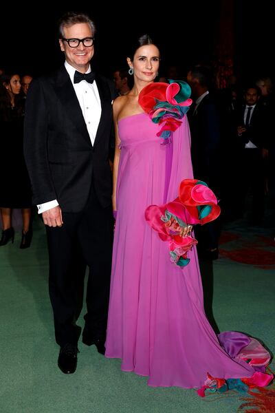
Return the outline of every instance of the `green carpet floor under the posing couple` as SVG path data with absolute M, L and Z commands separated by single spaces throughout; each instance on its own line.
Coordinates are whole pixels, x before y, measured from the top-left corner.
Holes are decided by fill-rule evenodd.
M 119 360 L 105 359 L 94 346 L 89 348 L 81 342 L 76 373 L 63 374 L 56 365 L 58 346 L 47 291 L 47 246 L 42 222 L 35 219 L 33 242 L 27 250 L 19 249 L 20 237 L 16 233 L 14 244 L 0 247 L 1 413 L 238 410 L 240 394 L 210 394 L 201 399 L 195 390 L 149 388 L 146 377 L 121 372 Z M 270 225 L 257 229 L 243 222 L 228 224 L 221 237 L 221 257 L 202 266 L 202 271 L 204 279 L 206 271 L 213 277 L 212 315 L 219 330 L 247 332 L 274 351 L 275 274 L 270 263 L 273 237 Z M 243 257 L 236 253 L 238 248 L 244 249 Z M 267 255 L 260 253 L 260 262 L 247 263 L 245 257 L 255 255 L 253 248 L 258 255 L 259 250 Z M 83 326 L 83 315 L 78 324 Z M 271 367 L 275 370 L 274 364 Z

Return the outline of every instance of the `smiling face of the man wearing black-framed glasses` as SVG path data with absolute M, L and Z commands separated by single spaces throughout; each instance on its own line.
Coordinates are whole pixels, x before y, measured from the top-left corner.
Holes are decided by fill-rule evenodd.
M 69 28 L 64 28 L 65 39 L 85 39 L 93 37 L 91 28 L 88 23 L 77 23 Z M 89 67 L 89 61 L 94 56 L 94 45 L 85 46 L 82 42 L 78 47 L 69 47 L 67 41 L 59 39 L 62 52 L 65 52 L 66 61 L 79 72 L 85 73 Z

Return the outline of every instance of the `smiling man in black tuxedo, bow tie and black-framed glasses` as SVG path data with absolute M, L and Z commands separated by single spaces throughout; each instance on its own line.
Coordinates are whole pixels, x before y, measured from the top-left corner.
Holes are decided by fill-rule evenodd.
M 91 72 L 95 25 L 87 14 L 66 13 L 59 22 L 65 65 L 30 85 L 25 114 L 25 160 L 33 200 L 47 231 L 49 289 L 58 367 L 74 373 L 76 325 L 89 266 L 83 343 L 104 354 L 111 273 L 112 211 L 109 147 L 113 82 Z

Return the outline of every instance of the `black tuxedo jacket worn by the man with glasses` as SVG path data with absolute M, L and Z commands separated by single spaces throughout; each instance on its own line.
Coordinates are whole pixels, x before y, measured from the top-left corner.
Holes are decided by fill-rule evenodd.
M 96 76 L 102 114 L 94 146 L 65 66 L 34 79 L 25 107 L 24 153 L 33 202 L 58 200 L 65 212 L 83 210 L 93 180 L 102 207 L 111 204 L 109 149 L 113 83 Z

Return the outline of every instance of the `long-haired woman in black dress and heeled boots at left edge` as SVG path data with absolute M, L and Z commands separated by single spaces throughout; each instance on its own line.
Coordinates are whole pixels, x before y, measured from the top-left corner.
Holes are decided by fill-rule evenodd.
M 0 246 L 14 241 L 12 209 L 21 209 L 23 229 L 20 248 L 32 240 L 30 228 L 32 193 L 23 156 L 23 113 L 20 76 L 3 74 L 0 84 L 0 210 L 2 236 Z

